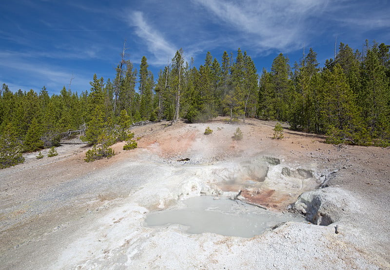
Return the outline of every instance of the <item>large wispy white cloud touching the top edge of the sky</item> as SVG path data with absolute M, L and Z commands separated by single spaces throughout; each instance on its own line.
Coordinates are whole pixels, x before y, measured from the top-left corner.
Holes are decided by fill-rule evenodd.
M 291 51 L 307 39 L 308 19 L 324 10 L 317 0 L 193 0 L 217 17 L 220 24 L 228 24 L 258 50 Z

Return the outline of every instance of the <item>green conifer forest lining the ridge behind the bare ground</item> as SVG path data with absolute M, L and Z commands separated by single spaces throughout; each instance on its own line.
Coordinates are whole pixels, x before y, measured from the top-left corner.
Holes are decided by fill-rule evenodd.
M 124 55 L 115 78 L 91 76 L 81 93 L 63 87 L 49 96 L 43 87 L 0 92 L 0 168 L 23 161 L 21 153 L 59 145 L 62 133 L 83 130 L 95 145 L 131 141 L 126 130 L 138 121 L 179 117 L 205 122 L 218 115 L 286 122 L 291 129 L 327 136 L 332 144 L 390 145 L 389 45 L 362 51 L 340 43 L 334 59 L 319 66 L 310 48 L 299 62 L 279 54 L 257 70 L 247 53 L 210 53 L 203 65 L 178 50 L 155 78 L 146 57 L 135 67 Z M 115 62 L 115 61 L 114 61 Z M 16 92 L 15 92 L 16 91 Z M 115 132 L 114 132 L 115 131 Z M 114 139 L 113 139 L 114 136 Z M 110 143 L 108 143 L 110 142 Z M 114 154 L 114 153 L 111 153 Z

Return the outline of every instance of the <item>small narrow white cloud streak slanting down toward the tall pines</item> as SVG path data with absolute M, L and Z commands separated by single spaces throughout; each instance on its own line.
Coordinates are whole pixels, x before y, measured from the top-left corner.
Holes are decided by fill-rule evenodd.
M 153 54 L 154 59 L 149 62 L 155 65 L 165 65 L 167 61 L 175 56 L 176 48 L 161 33 L 153 29 L 143 18 L 140 11 L 132 12 L 129 15 L 129 23 L 135 27 L 136 35 L 145 42 L 148 51 Z

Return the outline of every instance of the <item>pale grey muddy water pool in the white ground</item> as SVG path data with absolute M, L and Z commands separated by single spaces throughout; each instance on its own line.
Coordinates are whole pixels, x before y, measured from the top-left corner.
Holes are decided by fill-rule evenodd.
M 154 227 L 179 224 L 190 234 L 213 232 L 251 238 L 280 222 L 305 222 L 300 216 L 271 212 L 227 198 L 214 198 L 193 197 L 183 201 L 184 206 L 180 209 L 152 212 L 147 215 L 144 225 Z

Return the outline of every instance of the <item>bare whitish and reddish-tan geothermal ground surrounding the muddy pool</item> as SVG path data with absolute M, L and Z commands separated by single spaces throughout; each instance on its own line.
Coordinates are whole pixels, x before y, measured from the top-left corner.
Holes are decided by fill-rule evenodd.
M 88 147 L 63 144 L 1 170 L 0 268 L 390 269 L 389 149 L 288 129 L 274 140 L 274 123 L 256 119 L 166 124 L 132 128 L 139 148 L 117 143 L 110 159 L 85 163 Z M 308 221 L 252 238 L 144 226 L 151 212 L 239 190 L 243 205 Z

